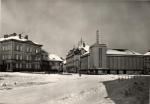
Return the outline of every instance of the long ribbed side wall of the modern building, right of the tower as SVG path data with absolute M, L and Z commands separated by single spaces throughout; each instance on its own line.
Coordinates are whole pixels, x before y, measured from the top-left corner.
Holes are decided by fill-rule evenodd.
M 141 55 L 108 55 L 107 67 L 111 70 L 142 70 L 143 56 Z

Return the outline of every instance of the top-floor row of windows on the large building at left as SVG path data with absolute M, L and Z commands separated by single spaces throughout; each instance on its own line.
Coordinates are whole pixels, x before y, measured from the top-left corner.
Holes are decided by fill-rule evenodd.
M 13 47 L 11 45 L 2 46 L 2 51 L 10 51 L 10 50 L 13 50 Z M 23 46 L 21 46 L 21 45 L 16 45 L 15 50 L 16 51 L 25 51 L 25 52 L 30 52 L 30 53 L 32 53 L 32 52 L 39 53 L 40 52 L 39 49 L 35 49 L 32 47 L 26 47 L 26 49 L 23 50 Z

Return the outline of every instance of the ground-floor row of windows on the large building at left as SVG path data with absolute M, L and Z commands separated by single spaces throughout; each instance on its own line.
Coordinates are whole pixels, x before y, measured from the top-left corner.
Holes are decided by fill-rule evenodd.
M 26 64 L 16 63 L 15 67 L 16 68 L 27 68 L 27 69 L 31 69 L 31 68 L 40 69 L 39 64 L 34 64 L 34 66 L 33 66 L 31 63 L 26 63 Z

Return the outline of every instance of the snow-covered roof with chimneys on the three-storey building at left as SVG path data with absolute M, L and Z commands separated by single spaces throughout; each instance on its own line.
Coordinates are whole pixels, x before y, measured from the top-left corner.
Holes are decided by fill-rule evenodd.
M 15 35 L 15 36 L 8 36 L 7 38 L 0 38 L 0 42 L 2 41 L 6 41 L 6 40 L 18 40 L 18 41 L 23 41 L 23 42 L 27 42 L 27 41 L 30 41 L 24 37 L 19 37 L 19 35 Z M 32 41 L 33 42 L 33 41 Z M 36 42 L 33 42 L 34 44 L 37 44 L 37 45 L 40 45 L 39 43 L 36 43 Z

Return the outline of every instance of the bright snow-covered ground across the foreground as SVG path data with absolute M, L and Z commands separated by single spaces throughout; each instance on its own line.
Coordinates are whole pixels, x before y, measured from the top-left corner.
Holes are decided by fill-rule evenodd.
M 129 77 L 0 73 L 0 104 L 115 104 L 103 82 L 118 78 Z

